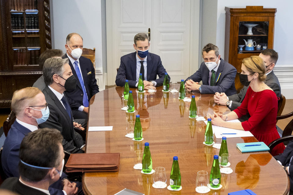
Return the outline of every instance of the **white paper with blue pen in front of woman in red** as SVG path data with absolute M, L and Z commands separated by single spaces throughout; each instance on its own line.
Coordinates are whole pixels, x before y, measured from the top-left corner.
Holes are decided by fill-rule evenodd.
M 204 121 L 205 124 L 208 124 L 208 121 Z M 240 122 L 238 119 L 234 119 L 234 120 L 230 120 L 229 122 Z M 212 125 L 213 128 L 213 133 L 215 134 L 216 138 L 222 138 L 222 137 L 251 137 L 253 136 L 252 133 L 250 133 L 250 131 L 244 131 L 244 130 L 237 130 L 237 129 L 230 129 L 230 128 L 226 128 L 226 127 L 220 127 L 220 126 L 215 126 Z M 236 133 L 236 134 L 232 134 L 232 135 L 228 135 L 228 134 L 222 134 L 222 133 Z

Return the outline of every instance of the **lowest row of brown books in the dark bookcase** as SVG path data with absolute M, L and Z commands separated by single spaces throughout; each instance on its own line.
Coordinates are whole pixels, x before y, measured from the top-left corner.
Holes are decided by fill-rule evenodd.
M 17 49 L 14 50 L 14 65 L 35 65 L 39 63 L 40 50 Z

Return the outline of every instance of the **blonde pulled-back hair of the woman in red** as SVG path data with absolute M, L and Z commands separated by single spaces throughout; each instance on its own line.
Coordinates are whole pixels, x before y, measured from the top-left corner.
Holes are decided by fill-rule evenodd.
M 244 58 L 242 64 L 250 73 L 259 73 L 258 79 L 264 81 L 266 79 L 266 65 L 262 58 L 259 56 L 250 56 L 249 58 Z

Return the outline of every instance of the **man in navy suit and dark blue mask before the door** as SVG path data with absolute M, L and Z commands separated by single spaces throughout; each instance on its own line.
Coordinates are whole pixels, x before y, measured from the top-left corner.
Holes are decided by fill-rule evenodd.
M 149 47 L 147 34 L 139 33 L 134 36 L 133 48 L 136 52 L 121 57 L 115 80 L 117 86 L 124 86 L 127 79 L 129 87 L 137 87 L 139 73 L 142 73 L 145 89 L 155 89 L 156 86 L 163 84 L 166 70 L 160 56 L 148 52 Z M 168 80 L 170 81 L 170 76 Z

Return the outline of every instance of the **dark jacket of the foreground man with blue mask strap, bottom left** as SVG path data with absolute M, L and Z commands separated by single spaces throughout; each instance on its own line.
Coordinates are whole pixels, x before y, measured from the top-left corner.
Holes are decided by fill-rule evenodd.
M 10 191 L 16 192 L 21 195 L 47 195 L 46 193 L 44 193 L 40 190 L 31 188 L 29 186 L 26 186 L 26 185 L 20 183 L 20 181 L 18 179 L 19 178 L 17 178 L 17 177 L 10 177 L 10 178 L 5 179 L 5 181 L 2 183 L 0 188 L 10 190 Z M 50 194 L 52 194 L 52 193 L 50 192 Z M 63 195 L 64 195 L 64 193 L 63 193 Z

